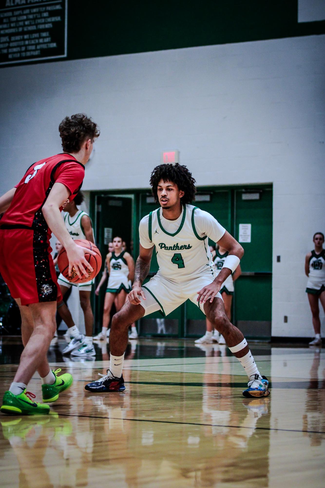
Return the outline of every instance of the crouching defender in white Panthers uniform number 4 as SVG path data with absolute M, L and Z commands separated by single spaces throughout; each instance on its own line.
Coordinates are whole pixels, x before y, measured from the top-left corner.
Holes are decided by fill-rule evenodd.
M 191 205 L 195 180 L 186 166 L 161 164 L 154 168 L 150 184 L 160 208 L 150 212 L 139 225 L 140 253 L 129 300 L 112 320 L 110 368 L 100 380 L 85 386 L 88 391 L 123 391 L 124 351 L 128 327 L 144 315 L 160 310 L 168 315 L 187 299 L 206 314 L 225 337 L 230 351 L 249 376 L 247 397 L 268 396 L 268 379 L 261 376 L 246 339 L 225 313 L 219 290 L 234 272 L 244 254 L 242 246 L 212 215 Z M 218 275 L 212 262 L 208 238 L 229 252 Z M 153 251 L 159 270 L 147 283 Z

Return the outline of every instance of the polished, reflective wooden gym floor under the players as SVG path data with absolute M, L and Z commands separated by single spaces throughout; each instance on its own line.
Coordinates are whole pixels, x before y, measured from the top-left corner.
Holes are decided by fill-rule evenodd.
M 0 414 L 1 488 L 325 487 L 324 350 L 250 344 L 271 394 L 248 400 L 226 346 L 132 341 L 125 392 L 91 394 L 107 344 L 89 361 L 63 361 L 65 345 L 54 339 L 49 360 L 74 384 L 51 415 Z M 21 350 L 19 338 L 0 338 L 1 396 Z M 41 399 L 37 374 L 28 390 Z

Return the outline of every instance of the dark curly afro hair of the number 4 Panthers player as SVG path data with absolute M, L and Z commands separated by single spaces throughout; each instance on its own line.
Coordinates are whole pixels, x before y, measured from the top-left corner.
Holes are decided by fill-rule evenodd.
M 153 196 L 158 202 L 157 188 L 160 180 L 164 182 L 172 182 L 178 186 L 179 190 L 184 191 L 184 196 L 181 198 L 182 203 L 191 203 L 195 200 L 195 180 L 192 173 L 183 164 L 159 164 L 151 173 L 150 185 L 153 189 Z

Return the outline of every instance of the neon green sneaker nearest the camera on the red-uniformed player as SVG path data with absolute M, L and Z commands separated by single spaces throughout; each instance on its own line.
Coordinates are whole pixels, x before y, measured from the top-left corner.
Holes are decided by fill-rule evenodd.
M 35 395 L 30 391 L 24 391 L 14 395 L 11 391 L 5 391 L 2 400 L 1 412 L 9 415 L 44 415 L 49 413 L 50 407 L 34 401 Z

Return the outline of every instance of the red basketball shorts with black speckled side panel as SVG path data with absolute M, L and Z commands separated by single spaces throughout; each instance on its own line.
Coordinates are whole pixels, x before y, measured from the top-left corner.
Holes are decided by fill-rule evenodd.
M 47 235 L 0 229 L 0 273 L 21 305 L 62 300 Z

